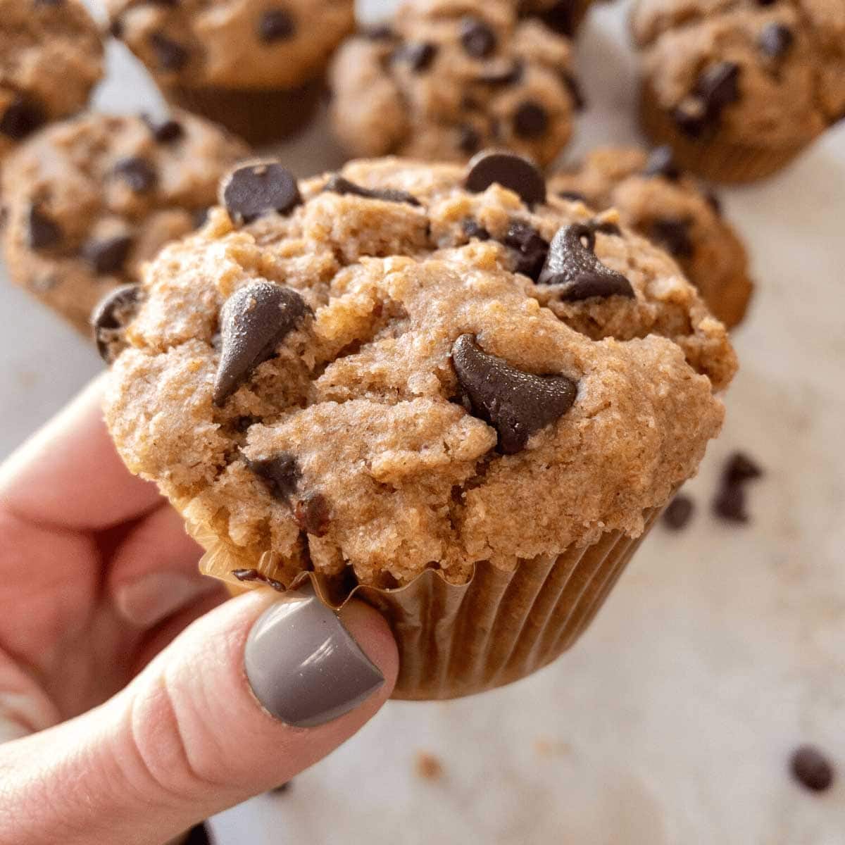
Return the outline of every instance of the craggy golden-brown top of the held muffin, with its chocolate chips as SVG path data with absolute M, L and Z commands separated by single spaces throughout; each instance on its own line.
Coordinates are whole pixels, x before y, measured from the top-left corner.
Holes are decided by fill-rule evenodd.
M 266 164 L 222 194 L 104 326 L 106 419 L 133 472 L 285 581 L 461 583 L 636 536 L 720 428 L 722 324 L 525 161 L 298 186 Z

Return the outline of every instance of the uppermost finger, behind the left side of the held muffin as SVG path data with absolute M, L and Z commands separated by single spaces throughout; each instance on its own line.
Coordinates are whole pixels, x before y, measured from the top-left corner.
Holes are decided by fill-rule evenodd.
M 36 524 L 89 531 L 133 519 L 160 501 L 154 485 L 123 466 L 109 438 L 104 379 L 91 382 L 0 466 L 0 505 Z

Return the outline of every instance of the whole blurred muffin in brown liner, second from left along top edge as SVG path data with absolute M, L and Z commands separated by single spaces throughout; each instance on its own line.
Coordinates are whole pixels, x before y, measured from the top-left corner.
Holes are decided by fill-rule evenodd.
M 353 0 L 106 0 L 112 34 L 169 99 L 269 144 L 307 123 Z

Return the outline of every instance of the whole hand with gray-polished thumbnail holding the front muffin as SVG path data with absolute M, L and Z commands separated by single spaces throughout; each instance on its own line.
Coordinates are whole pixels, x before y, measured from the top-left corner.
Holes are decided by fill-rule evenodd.
M 224 602 L 100 401 L 0 467 L 0 845 L 161 845 L 327 755 L 395 681 L 366 605 Z

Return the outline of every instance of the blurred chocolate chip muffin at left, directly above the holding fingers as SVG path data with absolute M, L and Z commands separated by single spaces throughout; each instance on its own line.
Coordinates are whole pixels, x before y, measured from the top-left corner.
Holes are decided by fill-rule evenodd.
M 91 309 L 199 225 L 243 142 L 187 112 L 88 114 L 36 134 L 3 166 L 13 281 L 90 334 Z

